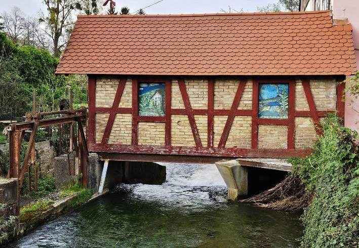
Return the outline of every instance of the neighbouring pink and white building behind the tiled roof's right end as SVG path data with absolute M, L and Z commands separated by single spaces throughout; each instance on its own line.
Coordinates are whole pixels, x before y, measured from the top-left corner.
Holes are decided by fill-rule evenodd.
M 355 3 L 356 2 L 356 3 Z M 359 5 L 353 0 L 301 0 L 300 11 L 332 11 L 333 23 L 352 26 L 356 69 L 359 70 Z M 347 76 L 350 77 L 350 76 Z M 345 101 L 345 126 L 359 132 L 359 99 L 350 94 Z

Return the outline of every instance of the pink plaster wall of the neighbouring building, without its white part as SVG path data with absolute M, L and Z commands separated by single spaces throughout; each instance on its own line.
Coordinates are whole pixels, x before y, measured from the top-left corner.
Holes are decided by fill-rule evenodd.
M 334 0 L 333 19 L 348 18 L 353 27 L 356 68 L 359 70 L 359 4 L 357 0 Z M 359 132 L 359 99 L 349 94 L 345 101 L 345 126 Z

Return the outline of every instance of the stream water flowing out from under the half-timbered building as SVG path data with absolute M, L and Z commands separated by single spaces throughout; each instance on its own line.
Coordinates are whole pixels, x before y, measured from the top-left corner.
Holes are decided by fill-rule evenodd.
M 162 164 L 164 185 L 119 185 L 11 247 L 298 246 L 298 214 L 227 202 L 214 164 Z

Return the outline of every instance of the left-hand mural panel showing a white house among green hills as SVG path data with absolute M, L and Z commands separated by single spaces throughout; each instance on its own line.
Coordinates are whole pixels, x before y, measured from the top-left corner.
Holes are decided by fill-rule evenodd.
M 139 87 L 139 115 L 165 116 L 165 84 L 141 83 Z

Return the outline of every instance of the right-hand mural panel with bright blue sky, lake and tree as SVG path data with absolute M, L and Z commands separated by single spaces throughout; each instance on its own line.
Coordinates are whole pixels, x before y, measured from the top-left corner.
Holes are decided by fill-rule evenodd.
M 288 84 L 259 85 L 259 118 L 288 118 Z

